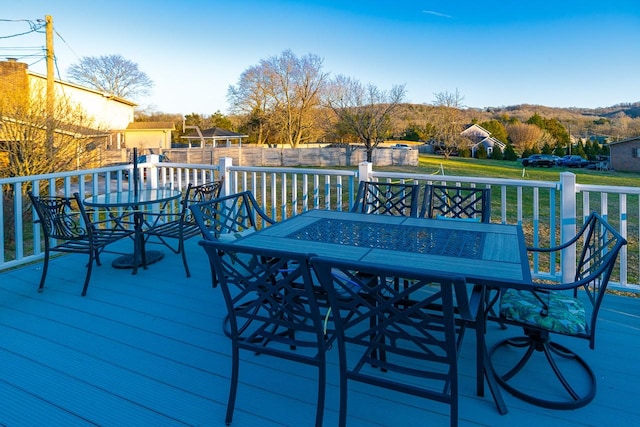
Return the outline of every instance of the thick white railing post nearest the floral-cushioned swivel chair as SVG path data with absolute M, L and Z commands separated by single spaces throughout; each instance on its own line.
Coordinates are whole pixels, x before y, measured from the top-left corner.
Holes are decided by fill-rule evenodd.
M 576 175 L 560 174 L 560 241 L 565 243 L 576 235 Z M 562 283 L 572 282 L 576 274 L 576 246 L 562 251 L 560 268 Z

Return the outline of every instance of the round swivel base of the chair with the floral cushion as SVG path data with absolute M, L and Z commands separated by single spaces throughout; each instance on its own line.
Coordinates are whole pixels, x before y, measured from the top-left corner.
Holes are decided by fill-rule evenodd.
M 510 338 L 503 341 L 500 341 L 490 351 L 491 359 L 494 359 L 495 353 L 503 347 L 516 347 L 516 348 L 524 348 L 524 355 L 518 360 L 518 362 L 513 365 L 511 369 L 509 369 L 505 374 L 495 374 L 495 378 L 498 383 L 513 396 L 524 400 L 525 402 L 529 402 L 536 406 L 541 406 L 544 408 L 550 409 L 577 409 L 587 405 L 589 402 L 593 400 L 596 394 L 596 377 L 593 373 L 593 370 L 589 365 L 582 359 L 580 356 L 575 354 L 573 351 L 568 348 L 551 342 L 548 339 L 548 336 L 523 336 Z M 544 353 L 547 363 L 553 370 L 559 384 L 562 386 L 564 391 L 567 393 L 566 400 L 549 400 L 542 397 L 537 397 L 529 393 L 525 393 L 524 391 L 517 388 L 517 386 L 510 384 L 509 381 L 513 379 L 516 374 L 527 365 L 527 362 L 531 359 L 533 354 L 536 352 Z M 578 393 L 569 383 L 565 375 L 560 370 L 560 367 L 556 363 L 556 359 L 554 358 L 554 354 L 560 356 L 565 359 L 569 359 L 575 361 L 581 368 L 582 372 L 586 374 L 588 377 L 588 386 L 582 395 Z M 494 364 L 495 366 L 495 364 Z M 540 374 L 540 373 L 539 373 Z M 530 384 L 530 383 L 529 383 Z M 548 396 L 548 390 L 541 390 L 540 395 Z

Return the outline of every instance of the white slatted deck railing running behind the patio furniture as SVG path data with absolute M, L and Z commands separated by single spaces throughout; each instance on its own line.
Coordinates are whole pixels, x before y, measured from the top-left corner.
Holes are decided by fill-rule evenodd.
M 224 176 L 224 194 L 250 190 L 263 210 L 281 221 L 309 209 L 349 210 L 360 180 L 414 182 L 491 188 L 491 222 L 521 224 L 530 246 L 556 245 L 568 240 L 591 211 L 605 217 L 629 241 L 620 255 L 612 285 L 640 290 L 640 188 L 576 184 L 575 175 L 560 174 L 560 181 L 531 181 L 383 172 L 363 163 L 358 169 L 312 169 L 234 166 L 230 158 L 218 165 L 142 164 L 142 185 L 150 188 L 185 189 Z M 41 258 L 34 245 L 40 230 L 33 223 L 31 207 L 24 194 L 34 189 L 41 194 L 86 196 L 125 191 L 131 184 L 131 166 L 114 166 L 86 171 L 19 177 L 0 180 L 0 270 Z M 536 277 L 554 281 L 571 280 L 575 253 L 562 259 L 531 259 Z M 567 268 L 562 268 L 566 265 Z

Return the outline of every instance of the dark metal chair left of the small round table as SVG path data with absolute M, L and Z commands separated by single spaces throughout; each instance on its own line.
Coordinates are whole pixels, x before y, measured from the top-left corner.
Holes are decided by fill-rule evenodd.
M 89 255 L 82 287 L 82 296 L 85 296 L 93 261 L 101 265 L 100 253 L 105 251 L 107 245 L 132 236 L 133 221 L 127 221 L 126 218 L 92 221 L 78 193 L 74 193 L 73 197 L 44 197 L 35 196 L 29 191 L 28 195 L 38 217 L 34 222 L 42 226 L 44 240 L 44 266 L 38 292 L 44 288 L 51 252 L 80 253 Z

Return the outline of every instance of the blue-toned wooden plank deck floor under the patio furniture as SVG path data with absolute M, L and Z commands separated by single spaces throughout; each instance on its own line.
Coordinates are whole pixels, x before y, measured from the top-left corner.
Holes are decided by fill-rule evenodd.
M 127 242 L 123 242 L 126 245 Z M 52 261 L 37 293 L 41 264 L 0 274 L 0 425 L 224 425 L 229 340 L 222 334 L 222 296 L 197 239 L 187 243 L 192 277 L 169 251 L 148 270 L 93 272 L 80 296 L 85 258 Z M 465 337 L 460 367 L 461 426 L 640 425 L 640 299 L 609 295 L 595 351 L 566 343 L 598 375 L 598 394 L 585 408 L 554 411 L 505 393 L 500 415 L 490 395 L 475 395 L 475 343 Z M 490 325 L 489 344 L 517 330 Z M 505 335 L 508 334 L 508 335 Z M 337 425 L 338 368 L 329 356 L 325 425 Z M 234 426 L 311 425 L 316 371 L 242 353 Z M 488 394 L 488 392 L 487 392 Z M 448 425 L 448 407 L 352 384 L 351 426 Z

